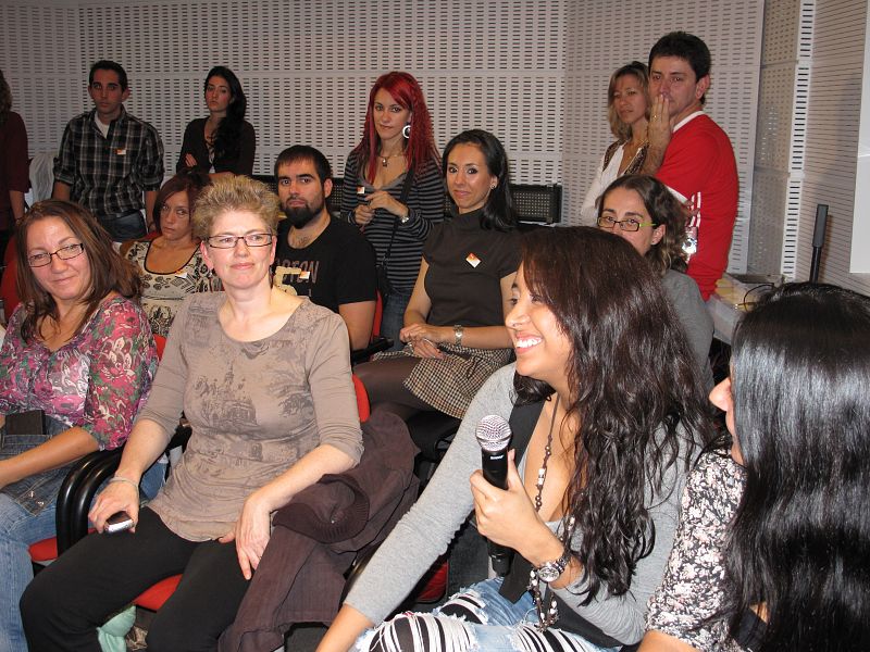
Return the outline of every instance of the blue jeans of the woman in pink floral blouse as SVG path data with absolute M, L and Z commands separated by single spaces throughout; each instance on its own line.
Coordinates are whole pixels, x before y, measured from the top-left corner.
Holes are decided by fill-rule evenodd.
M 54 501 L 34 516 L 0 493 L 0 650 L 27 652 L 18 600 L 34 577 L 27 547 L 54 536 Z

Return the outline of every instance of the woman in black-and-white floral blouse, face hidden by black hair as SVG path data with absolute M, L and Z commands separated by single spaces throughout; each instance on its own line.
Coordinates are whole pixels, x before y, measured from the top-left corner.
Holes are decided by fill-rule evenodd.
M 739 323 L 710 393 L 731 459 L 689 476 L 644 652 L 870 650 L 868 333 L 870 299 L 815 284 Z

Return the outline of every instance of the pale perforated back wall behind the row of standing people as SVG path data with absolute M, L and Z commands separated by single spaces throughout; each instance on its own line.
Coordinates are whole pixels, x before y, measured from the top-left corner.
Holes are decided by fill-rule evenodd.
M 151 122 L 174 170 L 184 127 L 206 114 L 203 77 L 241 78 L 257 130 L 254 170 L 307 142 L 341 175 L 359 141 L 368 90 L 387 70 L 421 82 L 438 147 L 469 127 L 495 133 L 521 183 L 562 183 L 564 222 L 611 140 L 607 80 L 646 61 L 671 29 L 697 34 L 713 55 L 710 114 L 729 133 L 741 174 L 732 267 L 746 261 L 762 0 L 0 0 L 0 65 L 27 124 L 32 152 L 60 141 L 90 106 L 89 64 L 130 76 L 128 110 Z M 36 46 L 39 43 L 39 46 Z

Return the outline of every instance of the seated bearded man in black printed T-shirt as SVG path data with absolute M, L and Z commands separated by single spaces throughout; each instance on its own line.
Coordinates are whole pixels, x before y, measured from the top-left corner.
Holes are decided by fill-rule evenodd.
M 278 225 L 276 286 L 337 312 L 347 325 L 350 348 L 372 336 L 377 291 L 374 249 L 350 224 L 326 209 L 333 191 L 330 162 L 313 147 L 297 145 L 278 154 L 275 180 L 286 220 Z

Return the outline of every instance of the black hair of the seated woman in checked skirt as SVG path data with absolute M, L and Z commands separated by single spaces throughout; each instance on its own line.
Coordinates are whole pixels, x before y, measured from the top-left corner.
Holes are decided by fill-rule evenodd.
M 483 129 L 468 129 L 453 136 L 447 147 L 444 148 L 444 156 L 442 156 L 442 176 L 445 178 L 447 177 L 447 159 L 457 145 L 477 146 L 486 160 L 486 167 L 489 170 L 489 174 L 498 179 L 498 184 L 489 191 L 489 196 L 483 206 L 481 226 L 500 231 L 509 231 L 517 228 L 519 220 L 517 211 L 513 210 L 513 196 L 510 193 L 508 153 L 505 151 L 501 141 L 489 131 L 484 131 Z M 450 198 L 450 201 L 452 201 L 452 198 Z

